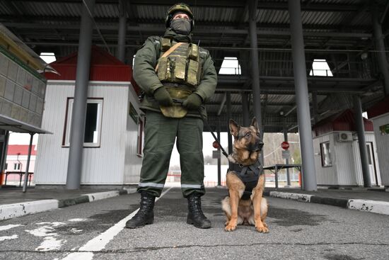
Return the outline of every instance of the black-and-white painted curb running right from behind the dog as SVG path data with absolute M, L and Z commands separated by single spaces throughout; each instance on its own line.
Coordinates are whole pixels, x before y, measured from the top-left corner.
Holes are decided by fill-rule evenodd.
M 303 193 L 288 193 L 280 191 L 264 191 L 264 196 L 274 198 L 286 198 L 306 203 L 318 203 L 337 206 L 349 210 L 359 210 L 369 213 L 389 215 L 389 202 L 380 200 L 357 200 L 349 198 L 322 197 Z

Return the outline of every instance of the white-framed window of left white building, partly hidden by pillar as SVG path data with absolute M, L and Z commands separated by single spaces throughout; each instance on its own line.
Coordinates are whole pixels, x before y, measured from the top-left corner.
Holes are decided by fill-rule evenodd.
M 74 98 L 68 98 L 65 132 L 62 146 L 70 145 L 71 113 L 73 111 Z M 103 115 L 103 98 L 88 99 L 86 106 L 85 133 L 83 147 L 100 147 L 101 118 Z

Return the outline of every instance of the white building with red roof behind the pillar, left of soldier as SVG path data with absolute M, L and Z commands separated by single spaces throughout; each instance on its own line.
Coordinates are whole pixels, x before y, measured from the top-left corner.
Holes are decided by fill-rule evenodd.
M 77 54 L 52 63 L 61 74 L 46 74 L 45 111 L 37 144 L 35 184 L 66 184 L 69 130 L 74 100 Z M 81 185 L 138 183 L 143 125 L 132 68 L 93 46 L 88 86 Z

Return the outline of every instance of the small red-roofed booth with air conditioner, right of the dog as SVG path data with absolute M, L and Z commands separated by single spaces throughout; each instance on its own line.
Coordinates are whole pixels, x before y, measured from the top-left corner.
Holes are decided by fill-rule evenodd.
M 313 152 L 318 186 L 364 186 L 354 112 L 332 115 L 313 127 Z M 372 186 L 381 186 L 373 123 L 364 118 Z

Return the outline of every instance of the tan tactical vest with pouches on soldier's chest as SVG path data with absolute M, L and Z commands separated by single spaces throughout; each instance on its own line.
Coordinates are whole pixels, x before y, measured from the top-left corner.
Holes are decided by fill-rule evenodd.
M 199 46 L 183 43 L 168 56 L 163 53 L 172 47 L 172 39 L 161 38 L 161 56 L 158 59 L 158 79 L 164 83 L 190 86 L 192 91 L 199 85 L 202 64 L 199 59 Z

